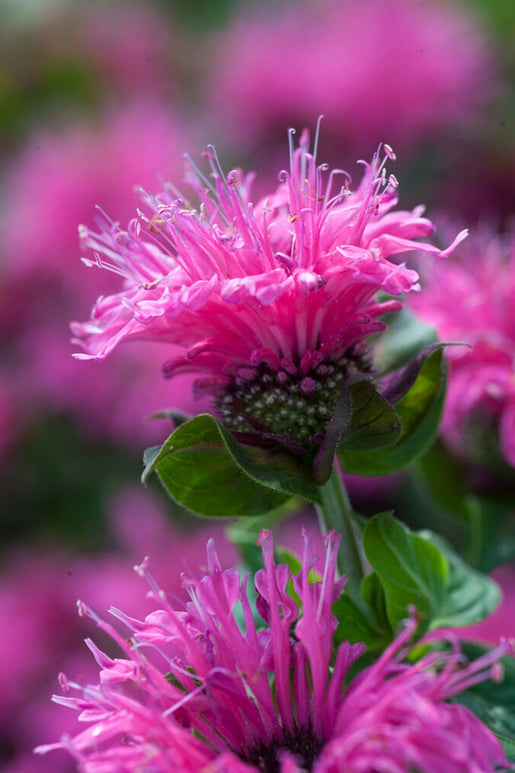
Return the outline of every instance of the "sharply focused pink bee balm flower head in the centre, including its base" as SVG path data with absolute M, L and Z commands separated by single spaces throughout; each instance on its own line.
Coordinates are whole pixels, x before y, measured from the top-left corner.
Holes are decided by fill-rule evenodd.
M 141 191 L 144 211 L 127 231 L 83 228 L 94 256 L 86 263 L 121 274 L 125 286 L 72 328 L 87 352 L 79 357 L 103 358 L 129 339 L 180 344 L 165 376 L 199 374 L 196 393 L 214 397 L 232 431 L 302 453 L 321 442 L 345 379 L 373 370 L 366 338 L 385 327 L 378 317 L 401 308 L 377 293 L 418 289 L 416 272 L 390 258 L 447 255 L 454 245 L 414 241 L 433 225 L 421 207 L 393 209 L 388 146 L 353 191 L 346 173 L 317 165 L 307 132 L 295 151 L 291 137 L 290 172 L 256 206 L 250 178 L 226 177 L 211 148 L 209 179 L 189 164 L 198 209 L 167 185 L 157 196 Z

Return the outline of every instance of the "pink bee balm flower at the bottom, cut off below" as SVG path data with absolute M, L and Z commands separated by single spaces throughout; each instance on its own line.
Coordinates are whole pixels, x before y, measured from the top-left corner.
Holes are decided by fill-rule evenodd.
M 64 691 L 80 695 L 56 700 L 89 725 L 37 751 L 67 749 L 84 773 L 493 773 L 506 766 L 490 730 L 447 699 L 495 676 L 507 645 L 465 665 L 453 641 L 450 652 L 405 663 L 411 615 L 379 660 L 344 687 L 364 646 L 334 649 L 331 609 L 344 584 L 335 577 L 338 542 L 327 535 L 316 574 L 305 536 L 303 565 L 293 575 L 276 566 L 270 533 L 262 532 L 255 608 L 248 577 L 222 571 L 212 542 L 206 573 L 183 580 L 190 601 L 181 607 L 144 562 L 139 571 L 161 609 L 144 622 L 112 610 L 129 639 L 80 604 L 125 658 L 88 640 L 99 684 L 82 688 L 62 676 Z

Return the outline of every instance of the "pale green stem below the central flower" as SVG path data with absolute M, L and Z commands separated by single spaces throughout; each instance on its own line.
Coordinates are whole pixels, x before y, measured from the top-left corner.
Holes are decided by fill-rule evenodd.
M 354 522 L 352 505 L 340 471 L 333 467 L 327 483 L 320 486 L 322 504 L 317 505 L 317 513 L 322 531 L 334 529 L 341 534 L 342 540 L 338 552 L 338 569 L 348 578 L 346 593 L 359 606 L 363 606 L 360 596 L 360 584 L 365 574 L 362 553 L 359 544 L 359 532 Z

